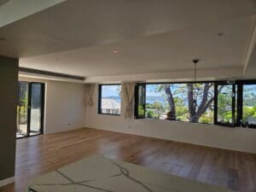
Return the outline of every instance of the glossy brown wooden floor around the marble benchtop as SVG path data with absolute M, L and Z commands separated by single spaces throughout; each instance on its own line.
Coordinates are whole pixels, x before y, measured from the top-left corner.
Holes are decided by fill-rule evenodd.
M 19 139 L 16 150 L 15 184 L 1 192 L 23 192 L 29 178 L 92 154 L 242 192 L 256 191 L 255 154 L 93 129 Z

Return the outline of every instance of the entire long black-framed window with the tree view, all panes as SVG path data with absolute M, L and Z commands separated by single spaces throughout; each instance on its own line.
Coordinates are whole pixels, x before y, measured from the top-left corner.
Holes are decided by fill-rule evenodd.
M 256 82 L 137 84 L 136 118 L 256 125 Z

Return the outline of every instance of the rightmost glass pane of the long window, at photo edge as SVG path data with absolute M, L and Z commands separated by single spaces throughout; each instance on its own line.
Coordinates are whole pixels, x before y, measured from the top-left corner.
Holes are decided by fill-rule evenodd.
M 256 84 L 243 85 L 242 120 L 248 126 L 256 125 Z

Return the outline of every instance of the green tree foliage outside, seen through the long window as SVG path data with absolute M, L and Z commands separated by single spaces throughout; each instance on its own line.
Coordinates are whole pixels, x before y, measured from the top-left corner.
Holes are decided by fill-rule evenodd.
M 208 84 L 209 90 L 207 91 L 207 102 L 210 101 L 214 96 L 213 84 Z M 172 90 L 172 98 L 175 103 L 175 114 L 176 119 L 181 121 L 189 121 L 189 87 L 192 86 L 193 98 L 196 99 L 196 108 L 195 112 L 201 105 L 202 96 L 206 93 L 205 88 L 206 84 L 158 84 L 155 92 L 160 92 L 161 95 L 166 98 L 165 102 L 154 102 L 152 104 L 146 105 L 146 115 L 150 118 L 156 119 L 166 119 L 167 113 L 170 112 L 171 106 L 169 102 L 167 102 L 167 98 L 170 95 L 166 94 L 166 88 L 169 87 Z M 218 120 L 223 123 L 230 123 L 232 121 L 232 86 L 227 85 L 223 87 L 219 87 L 218 93 Z M 170 91 L 168 92 L 170 94 Z M 159 94 L 158 94 L 159 95 Z M 212 100 L 211 100 L 212 101 Z M 173 103 L 172 102 L 172 103 Z M 191 101 L 190 101 L 191 102 Z M 203 113 L 201 113 L 198 122 L 205 124 L 213 124 L 213 101 L 209 105 Z M 190 108 L 191 109 L 191 108 Z M 243 90 L 243 119 L 247 119 L 248 117 L 256 118 L 256 92 L 255 88 L 250 87 L 249 85 L 244 86 Z M 190 119 L 191 120 L 191 119 Z M 193 122 L 196 122 L 193 121 Z

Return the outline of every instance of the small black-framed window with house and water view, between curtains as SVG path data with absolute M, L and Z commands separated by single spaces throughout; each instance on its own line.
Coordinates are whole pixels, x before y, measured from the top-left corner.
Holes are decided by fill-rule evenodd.
M 121 113 L 121 85 L 99 85 L 99 109 L 102 114 L 119 115 Z

